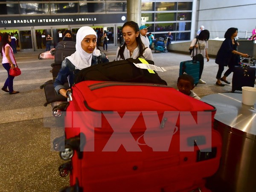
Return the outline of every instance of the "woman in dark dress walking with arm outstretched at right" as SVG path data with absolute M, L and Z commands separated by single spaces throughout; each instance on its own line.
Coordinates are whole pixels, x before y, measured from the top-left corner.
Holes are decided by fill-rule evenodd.
M 241 55 L 245 58 L 249 57 L 247 53 L 241 53 L 236 51 L 237 46 L 239 45 L 239 43 L 235 41 L 235 37 L 237 36 L 237 34 L 237 28 L 231 27 L 227 29 L 224 35 L 225 40 L 222 42 L 221 47 L 216 55 L 215 63 L 218 64 L 216 85 L 218 86 L 224 86 L 221 81 L 230 84 L 230 82 L 227 81 L 227 76 L 229 76 L 230 73 L 233 72 L 235 65 L 239 63 L 239 58 L 237 57 L 237 55 Z M 224 76 L 221 77 L 225 66 L 228 66 L 228 70 L 224 73 Z

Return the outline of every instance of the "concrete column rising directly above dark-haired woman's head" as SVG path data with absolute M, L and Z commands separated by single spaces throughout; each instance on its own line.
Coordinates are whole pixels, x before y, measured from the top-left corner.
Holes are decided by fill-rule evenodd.
M 127 21 L 141 25 L 141 0 L 127 0 Z

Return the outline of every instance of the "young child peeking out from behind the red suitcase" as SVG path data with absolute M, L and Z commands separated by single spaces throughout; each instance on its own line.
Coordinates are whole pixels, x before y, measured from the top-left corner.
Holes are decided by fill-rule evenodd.
M 184 93 L 185 95 L 188 95 L 195 99 L 200 100 L 201 98 L 192 91 L 195 87 L 194 84 L 195 84 L 194 78 L 187 74 L 183 74 L 179 76 L 177 81 L 177 87 L 181 93 Z

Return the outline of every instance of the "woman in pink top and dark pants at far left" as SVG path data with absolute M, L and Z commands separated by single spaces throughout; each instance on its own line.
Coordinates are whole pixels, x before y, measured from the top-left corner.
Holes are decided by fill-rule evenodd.
M 10 76 L 9 74 L 9 70 L 15 67 L 15 57 L 13 55 L 13 50 L 12 50 L 12 47 L 10 46 L 10 43 L 11 43 L 11 35 L 9 35 L 8 33 L 3 33 L 3 36 L 1 39 L 0 51 L 3 57 L 2 64 L 7 71 L 8 77 L 2 87 L 2 90 L 9 94 L 16 94 L 20 92 L 13 90 L 14 76 Z M 9 90 L 7 89 L 7 87 Z

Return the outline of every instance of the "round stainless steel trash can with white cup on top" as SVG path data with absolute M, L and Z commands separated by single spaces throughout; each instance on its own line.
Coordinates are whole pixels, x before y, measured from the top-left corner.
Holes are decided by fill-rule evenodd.
M 256 191 L 256 105 L 241 102 L 241 93 L 218 93 L 201 101 L 215 106 L 215 128 L 223 141 L 221 162 L 214 175 L 216 191 Z

